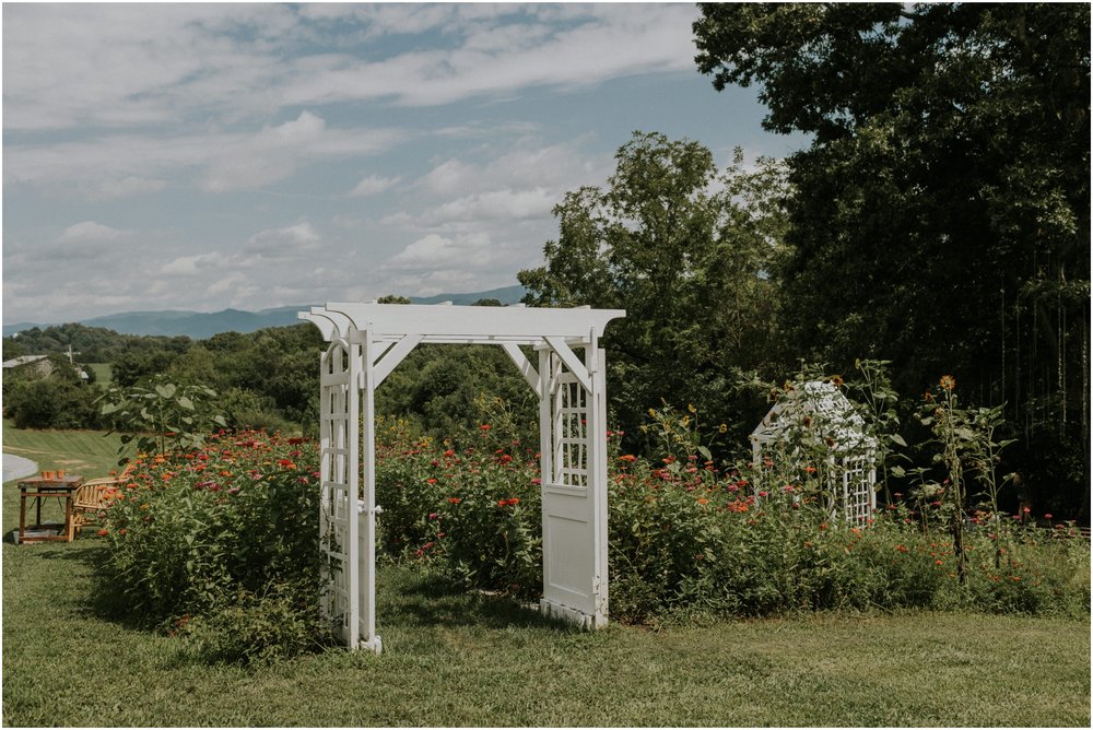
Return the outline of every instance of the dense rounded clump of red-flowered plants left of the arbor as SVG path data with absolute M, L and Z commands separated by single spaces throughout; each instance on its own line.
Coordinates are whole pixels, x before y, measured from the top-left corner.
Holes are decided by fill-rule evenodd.
M 126 611 L 183 629 L 203 656 L 298 654 L 318 616 L 315 445 L 213 434 L 200 450 L 132 462 L 105 511 L 109 579 Z

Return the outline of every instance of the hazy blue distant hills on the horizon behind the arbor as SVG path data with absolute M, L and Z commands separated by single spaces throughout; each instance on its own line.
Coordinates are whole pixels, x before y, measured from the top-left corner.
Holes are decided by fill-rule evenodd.
M 473 304 L 479 299 L 497 299 L 502 304 L 517 304 L 522 296 L 524 287 L 517 284 L 515 286 L 504 286 L 502 289 L 470 294 L 437 294 L 436 296 L 426 297 L 411 296 L 410 301 L 413 304 L 438 304 L 440 302 Z M 103 327 L 120 334 L 164 334 L 167 337 L 185 334 L 195 340 L 204 340 L 220 332 L 242 332 L 245 334 L 267 327 L 298 325 L 299 320 L 296 319 L 296 313 L 304 311 L 310 306 L 309 304 L 293 305 L 262 309 L 260 311 L 243 311 L 240 309 L 224 309 L 223 311 L 213 313 L 185 310 L 126 311 L 117 315 L 81 319 L 79 323 L 87 327 Z M 45 328 L 48 325 L 30 322 L 4 325 L 3 335 L 11 337 L 34 327 Z

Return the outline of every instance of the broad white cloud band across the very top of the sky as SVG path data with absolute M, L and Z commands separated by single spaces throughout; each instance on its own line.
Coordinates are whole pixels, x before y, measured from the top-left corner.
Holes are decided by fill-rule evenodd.
M 678 3 L 15 4 L 4 10 L 4 128 L 259 119 L 385 97 L 436 105 L 690 70 L 696 16 Z M 446 43 L 386 56 L 372 45 L 424 33 Z

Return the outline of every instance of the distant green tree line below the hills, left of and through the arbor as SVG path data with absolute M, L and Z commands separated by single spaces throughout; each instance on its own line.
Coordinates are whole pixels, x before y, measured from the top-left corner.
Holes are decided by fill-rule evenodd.
M 388 295 L 385 304 L 409 304 Z M 501 306 L 482 299 L 477 306 Z M 304 432 L 318 428 L 319 356 L 326 349 L 312 325 L 278 327 L 248 334 L 223 332 L 205 340 L 187 337 L 118 334 L 70 323 L 4 338 L 5 358 L 48 354 L 56 366 L 24 366 L 4 373 L 4 415 L 16 427 L 107 427 L 96 401 L 106 384 L 82 382 L 68 357 L 106 363 L 110 386 L 148 387 L 166 378 L 179 386 L 201 385 L 218 396 L 211 403 L 232 427 Z M 48 369 L 48 368 L 47 368 Z M 93 369 L 90 372 L 94 372 Z M 422 346 L 390 376 L 377 396 L 381 413 L 412 422 L 422 434 L 446 438 L 473 427 L 491 413 L 526 404 L 527 385 L 508 356 L 491 346 Z

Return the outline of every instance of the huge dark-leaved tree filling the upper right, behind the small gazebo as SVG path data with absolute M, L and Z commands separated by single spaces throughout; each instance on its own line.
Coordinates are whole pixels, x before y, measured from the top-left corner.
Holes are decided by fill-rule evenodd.
M 1069 481 L 1088 516 L 1089 5 L 704 4 L 694 32 L 715 87 L 761 84 L 766 128 L 812 134 L 789 161 L 801 351 L 1007 402 L 1024 483 Z

